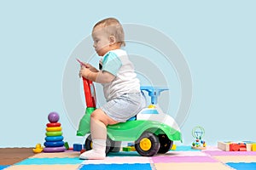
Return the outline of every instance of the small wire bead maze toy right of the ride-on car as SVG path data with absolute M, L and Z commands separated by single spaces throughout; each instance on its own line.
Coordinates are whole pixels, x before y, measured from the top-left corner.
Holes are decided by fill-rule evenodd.
M 203 127 L 194 127 L 192 130 L 192 136 L 195 138 L 195 141 L 192 143 L 191 148 L 195 150 L 205 150 L 207 149 L 207 143 L 202 140 L 202 137 L 205 134 L 205 129 Z

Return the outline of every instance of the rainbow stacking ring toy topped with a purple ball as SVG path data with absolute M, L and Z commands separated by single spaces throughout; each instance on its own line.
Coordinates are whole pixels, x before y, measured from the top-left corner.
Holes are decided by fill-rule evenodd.
M 44 152 L 65 151 L 61 123 L 58 122 L 60 116 L 57 112 L 50 112 L 48 115 L 49 123 L 46 124 L 46 137 L 44 142 Z

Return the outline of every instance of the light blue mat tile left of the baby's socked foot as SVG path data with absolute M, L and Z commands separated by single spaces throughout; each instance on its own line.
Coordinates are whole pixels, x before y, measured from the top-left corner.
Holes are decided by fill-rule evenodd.
M 24 161 L 15 163 L 15 165 L 55 165 L 55 164 L 74 165 L 74 164 L 80 164 L 83 161 L 84 160 L 80 160 L 78 157 L 28 158 Z

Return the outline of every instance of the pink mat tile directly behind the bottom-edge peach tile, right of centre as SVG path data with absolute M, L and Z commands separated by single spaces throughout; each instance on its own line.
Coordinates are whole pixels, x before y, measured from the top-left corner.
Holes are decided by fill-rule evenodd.
M 168 162 L 218 162 L 211 156 L 154 156 L 152 157 L 154 163 L 168 163 Z

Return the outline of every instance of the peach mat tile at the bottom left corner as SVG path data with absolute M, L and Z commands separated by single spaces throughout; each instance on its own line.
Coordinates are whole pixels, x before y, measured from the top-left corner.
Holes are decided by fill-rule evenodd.
M 79 165 L 14 165 L 5 170 L 73 170 L 79 169 Z

